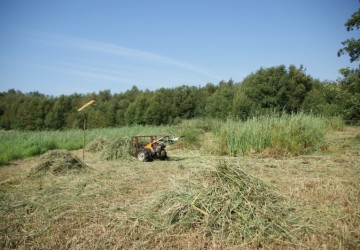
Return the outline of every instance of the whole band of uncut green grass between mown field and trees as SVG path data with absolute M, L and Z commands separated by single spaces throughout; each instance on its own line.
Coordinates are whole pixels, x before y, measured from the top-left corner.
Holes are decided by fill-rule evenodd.
M 318 150 L 324 144 L 324 135 L 331 126 L 342 129 L 339 118 L 312 115 L 268 115 L 248 121 L 193 119 L 178 126 L 127 126 L 121 128 L 91 129 L 86 131 L 86 142 L 99 137 L 115 140 L 134 135 L 184 135 L 179 146 L 199 149 L 200 135 L 213 136 L 208 142 L 212 154 L 231 156 L 271 150 L 276 154 L 299 155 Z M 0 165 L 11 160 L 40 155 L 48 150 L 75 150 L 83 147 L 83 131 L 0 131 Z

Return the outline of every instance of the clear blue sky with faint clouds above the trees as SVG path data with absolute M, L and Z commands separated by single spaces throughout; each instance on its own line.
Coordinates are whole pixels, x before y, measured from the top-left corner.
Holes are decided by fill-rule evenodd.
M 0 91 L 235 82 L 293 64 L 336 80 L 358 0 L 0 0 Z

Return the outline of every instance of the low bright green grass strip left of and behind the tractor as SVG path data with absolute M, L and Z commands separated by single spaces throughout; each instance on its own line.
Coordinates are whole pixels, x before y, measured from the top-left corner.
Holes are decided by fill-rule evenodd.
M 170 126 L 129 126 L 86 130 L 86 142 L 99 137 L 114 140 L 133 135 L 171 134 Z M 0 165 L 11 160 L 40 155 L 53 149 L 75 150 L 84 145 L 83 130 L 65 131 L 0 131 Z

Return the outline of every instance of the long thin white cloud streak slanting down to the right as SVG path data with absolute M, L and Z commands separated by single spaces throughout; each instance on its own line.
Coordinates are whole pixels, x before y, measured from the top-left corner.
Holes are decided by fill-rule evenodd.
M 217 76 L 203 67 L 155 53 L 126 48 L 111 43 L 49 33 L 42 34 L 40 36 L 40 41 L 47 44 L 52 44 L 54 46 L 76 48 L 92 52 L 100 52 L 112 56 L 125 57 L 143 63 L 172 66 L 178 69 L 188 70 L 193 73 L 201 74 L 203 76 L 210 77 L 211 79 L 219 80 Z

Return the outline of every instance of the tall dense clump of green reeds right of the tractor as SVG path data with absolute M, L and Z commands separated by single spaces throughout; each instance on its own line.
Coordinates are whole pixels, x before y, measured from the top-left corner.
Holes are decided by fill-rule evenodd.
M 223 140 L 221 145 L 226 147 L 225 152 L 232 156 L 266 150 L 276 155 L 300 155 L 324 145 L 328 124 L 327 119 L 312 115 L 267 115 L 245 122 L 228 120 L 218 135 Z

